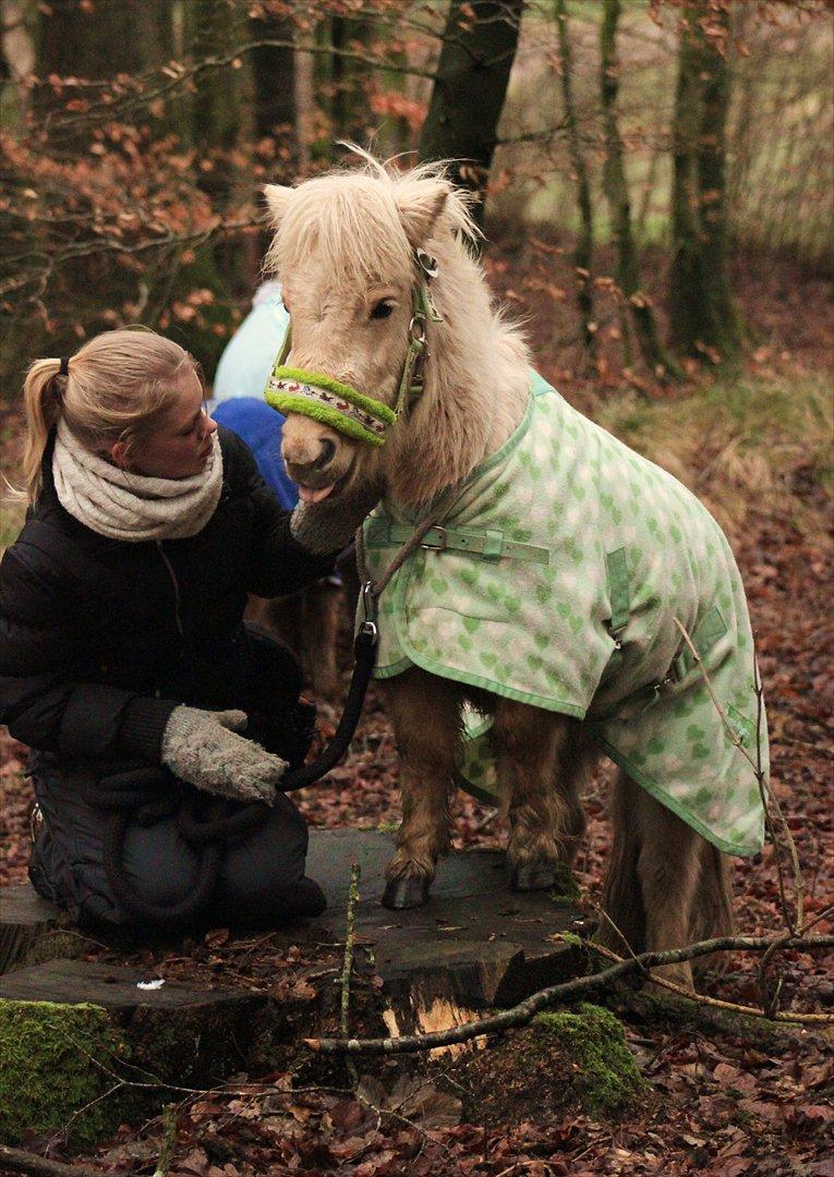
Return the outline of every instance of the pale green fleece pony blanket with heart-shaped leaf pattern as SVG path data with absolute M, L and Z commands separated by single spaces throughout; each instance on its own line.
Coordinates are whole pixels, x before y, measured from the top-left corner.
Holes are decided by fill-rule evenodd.
M 365 523 L 385 571 L 417 520 Z M 720 850 L 757 852 L 767 725 L 741 577 L 675 478 L 537 374 L 527 413 L 380 599 L 376 676 L 410 665 L 593 725 L 634 780 Z M 675 618 L 690 636 L 722 714 Z M 469 712 L 459 783 L 496 792 L 490 722 Z

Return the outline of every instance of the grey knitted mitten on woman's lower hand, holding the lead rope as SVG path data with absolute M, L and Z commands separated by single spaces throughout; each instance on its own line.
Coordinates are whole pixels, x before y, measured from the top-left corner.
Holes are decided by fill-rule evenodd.
M 174 707 L 163 732 L 163 762 L 207 793 L 271 805 L 287 762 L 237 736 L 245 726 L 243 711 Z

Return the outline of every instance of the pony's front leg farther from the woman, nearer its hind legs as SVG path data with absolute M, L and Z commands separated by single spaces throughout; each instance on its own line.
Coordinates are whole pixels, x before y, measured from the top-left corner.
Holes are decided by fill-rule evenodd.
M 557 864 L 570 865 L 584 832 L 578 780 L 585 758 L 576 726 L 510 699 L 496 709 L 498 785 L 510 820 L 507 856 L 516 891 L 552 886 Z

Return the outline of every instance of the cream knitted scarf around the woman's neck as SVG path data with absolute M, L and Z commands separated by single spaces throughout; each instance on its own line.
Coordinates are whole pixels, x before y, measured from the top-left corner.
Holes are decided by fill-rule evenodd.
M 52 474 L 65 510 L 99 536 L 134 544 L 187 539 L 201 531 L 214 513 L 223 488 L 223 455 L 216 433 L 199 474 L 147 478 L 91 453 L 60 421 Z

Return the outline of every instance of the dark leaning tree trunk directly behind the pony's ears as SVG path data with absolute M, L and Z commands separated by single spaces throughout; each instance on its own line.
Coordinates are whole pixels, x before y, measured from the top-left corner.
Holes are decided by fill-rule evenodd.
M 421 159 L 455 160 L 456 181 L 477 195 L 476 219 L 483 217 L 523 8 L 524 0 L 452 0 L 423 124 Z

